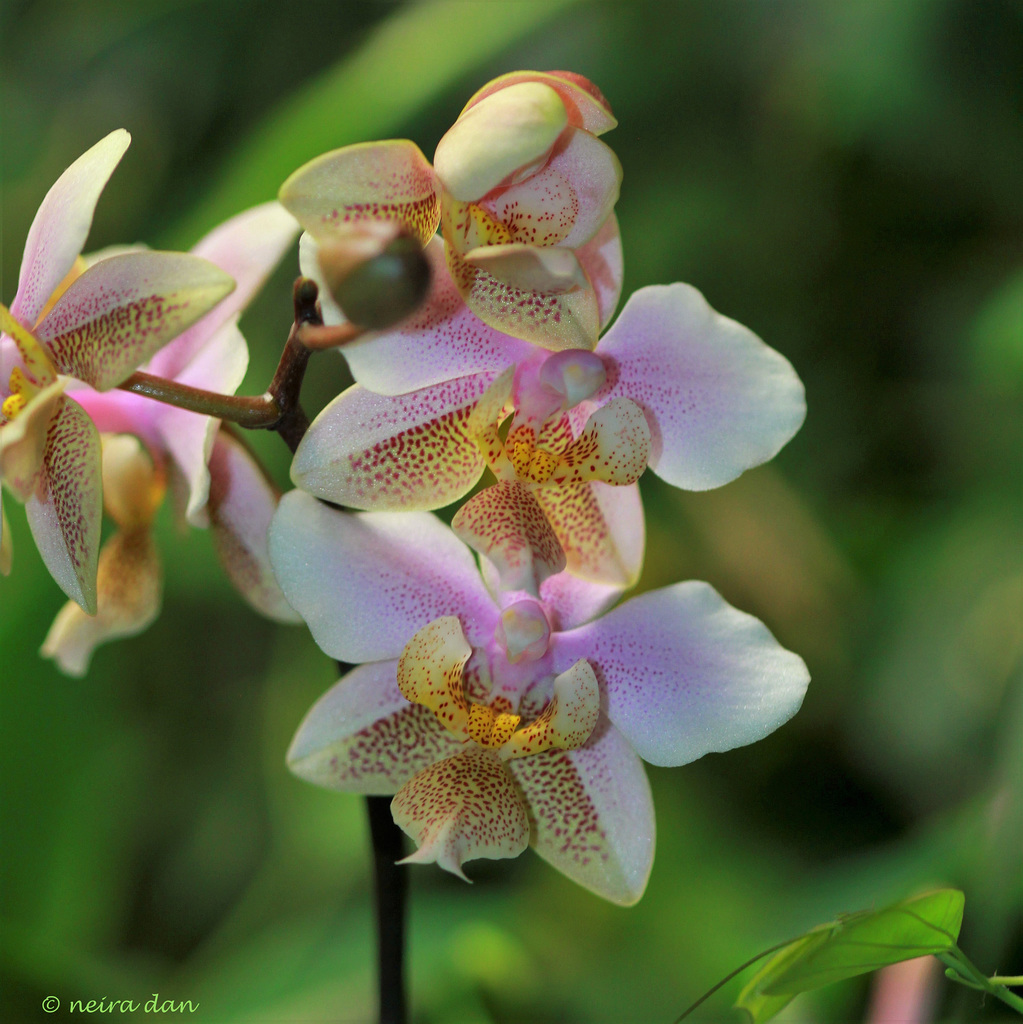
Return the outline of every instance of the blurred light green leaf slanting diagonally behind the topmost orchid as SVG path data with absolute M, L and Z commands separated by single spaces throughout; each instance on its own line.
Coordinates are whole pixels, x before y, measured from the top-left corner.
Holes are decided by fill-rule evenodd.
M 321 153 L 400 129 L 467 72 L 577 2 L 516 0 L 486 4 L 482 13 L 463 0 L 399 8 L 235 151 L 220 179 L 167 243 L 193 245 L 219 221 L 273 199 L 292 171 Z M 482 84 L 469 89 L 462 102 Z M 453 121 L 459 110 L 461 103 Z

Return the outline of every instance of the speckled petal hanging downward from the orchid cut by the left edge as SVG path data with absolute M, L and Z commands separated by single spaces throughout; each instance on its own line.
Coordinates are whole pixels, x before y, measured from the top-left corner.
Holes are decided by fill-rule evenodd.
M 96 565 L 102 520 L 99 434 L 67 395 L 50 421 L 43 473 L 25 511 L 43 563 L 57 586 L 96 612 Z

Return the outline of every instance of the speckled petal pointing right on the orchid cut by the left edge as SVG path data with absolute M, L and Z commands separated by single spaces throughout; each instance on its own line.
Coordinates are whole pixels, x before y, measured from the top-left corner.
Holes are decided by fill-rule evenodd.
M 89 267 L 38 327 L 62 374 L 105 391 L 235 287 L 186 253 L 135 252 Z

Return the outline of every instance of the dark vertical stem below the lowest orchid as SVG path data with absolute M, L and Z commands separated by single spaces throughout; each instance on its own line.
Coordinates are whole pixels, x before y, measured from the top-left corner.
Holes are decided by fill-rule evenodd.
M 377 971 L 380 1024 L 406 1024 L 404 922 L 409 877 L 396 861 L 404 856 L 401 829 L 391 816 L 390 797 L 367 797 L 376 879 Z

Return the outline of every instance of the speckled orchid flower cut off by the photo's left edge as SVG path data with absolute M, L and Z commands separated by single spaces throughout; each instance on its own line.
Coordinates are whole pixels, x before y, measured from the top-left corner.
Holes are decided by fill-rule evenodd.
M 112 132 L 60 175 L 33 220 L 10 309 L 0 307 L 0 475 L 26 503 L 50 574 L 90 613 L 99 435 L 65 394 L 63 378 L 116 387 L 235 287 L 219 267 L 183 253 L 121 253 L 82 269 L 96 202 L 129 141 Z

